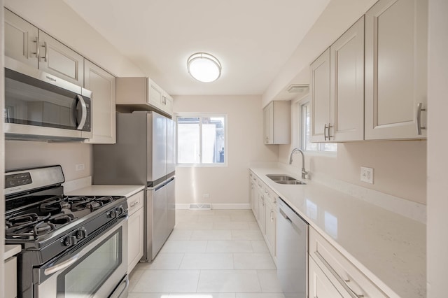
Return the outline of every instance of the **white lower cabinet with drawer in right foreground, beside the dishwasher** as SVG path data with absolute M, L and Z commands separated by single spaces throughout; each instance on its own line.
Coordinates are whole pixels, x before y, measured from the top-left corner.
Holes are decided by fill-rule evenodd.
M 309 297 L 388 297 L 312 227 L 309 227 L 308 282 Z

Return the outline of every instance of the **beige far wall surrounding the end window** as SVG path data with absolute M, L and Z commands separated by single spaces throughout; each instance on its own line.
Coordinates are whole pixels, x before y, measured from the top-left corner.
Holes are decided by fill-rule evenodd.
M 262 139 L 260 96 L 178 96 L 174 112 L 224 113 L 228 120 L 228 166 L 176 168 L 176 204 L 247 204 L 250 162 L 276 162 L 278 146 Z M 208 193 L 209 199 L 203 199 Z M 235 205 L 234 205 L 235 206 Z

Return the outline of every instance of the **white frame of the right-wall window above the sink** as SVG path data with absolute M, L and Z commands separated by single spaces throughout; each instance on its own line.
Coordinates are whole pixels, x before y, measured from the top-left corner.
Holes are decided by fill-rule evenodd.
M 337 155 L 337 143 L 336 144 L 336 150 L 335 151 L 330 151 L 330 150 L 325 150 L 325 144 L 327 143 L 315 143 L 317 145 L 317 150 L 307 150 L 306 148 L 306 133 L 304 132 L 305 129 L 305 119 L 304 119 L 304 106 L 308 106 L 309 110 L 310 110 L 310 123 L 309 125 L 311 125 L 311 100 L 309 99 L 309 96 L 303 97 L 302 99 L 300 99 L 299 101 L 297 101 L 297 106 L 296 106 L 296 111 L 297 111 L 297 126 L 299 127 L 298 129 L 298 136 L 297 139 L 299 140 L 299 145 L 300 145 L 300 149 L 302 149 L 304 152 L 307 152 L 311 155 L 330 155 L 330 156 L 335 156 Z M 311 134 L 311 129 L 309 134 Z

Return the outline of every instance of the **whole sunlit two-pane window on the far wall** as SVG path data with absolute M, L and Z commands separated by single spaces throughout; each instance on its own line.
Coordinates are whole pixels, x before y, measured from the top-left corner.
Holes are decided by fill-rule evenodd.
M 225 115 L 181 115 L 177 117 L 177 164 L 225 166 Z

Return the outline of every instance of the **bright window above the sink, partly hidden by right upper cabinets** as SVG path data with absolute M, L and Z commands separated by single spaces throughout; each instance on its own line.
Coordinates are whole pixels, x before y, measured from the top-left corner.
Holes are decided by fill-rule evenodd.
M 299 102 L 297 104 L 298 113 L 300 114 L 300 140 L 302 141 L 302 150 L 315 152 L 336 152 L 336 143 L 311 143 L 311 104 L 309 101 Z

